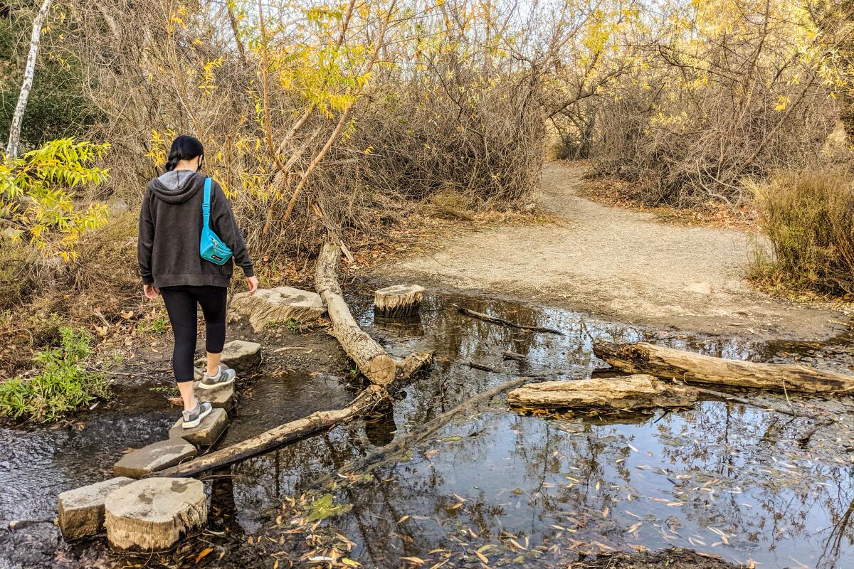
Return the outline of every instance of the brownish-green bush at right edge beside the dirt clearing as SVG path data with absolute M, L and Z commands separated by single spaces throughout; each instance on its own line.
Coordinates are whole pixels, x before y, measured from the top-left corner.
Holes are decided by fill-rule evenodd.
M 840 168 L 782 173 L 755 189 L 772 254 L 757 249 L 754 280 L 854 293 L 854 183 Z

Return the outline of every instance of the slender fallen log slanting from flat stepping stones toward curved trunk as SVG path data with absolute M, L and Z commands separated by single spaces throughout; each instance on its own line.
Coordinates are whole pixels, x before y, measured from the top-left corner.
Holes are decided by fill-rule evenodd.
M 246 460 L 251 456 L 256 456 L 277 449 L 283 444 L 292 443 L 298 439 L 306 438 L 314 433 L 325 431 L 330 427 L 335 427 L 338 423 L 348 421 L 357 415 L 361 415 L 367 409 L 371 409 L 386 397 L 386 391 L 383 386 L 368 386 L 361 392 L 344 409 L 336 409 L 332 411 L 317 411 L 297 419 L 274 427 L 265 433 L 261 433 L 252 438 L 232 444 L 229 447 L 221 450 L 215 450 L 207 455 L 199 456 L 191 461 L 178 464 L 178 466 L 167 468 L 159 472 L 153 473 L 152 476 L 164 477 L 186 477 L 195 476 L 215 468 L 221 468 Z

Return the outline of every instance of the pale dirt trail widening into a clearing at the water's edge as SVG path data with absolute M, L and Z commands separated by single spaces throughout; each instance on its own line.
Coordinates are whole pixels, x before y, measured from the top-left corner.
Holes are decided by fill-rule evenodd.
M 577 165 L 543 170 L 540 207 L 566 224 L 465 230 L 375 275 L 700 333 L 819 340 L 846 328 L 837 312 L 752 289 L 743 276 L 751 234 L 594 203 L 576 194 L 583 174 Z

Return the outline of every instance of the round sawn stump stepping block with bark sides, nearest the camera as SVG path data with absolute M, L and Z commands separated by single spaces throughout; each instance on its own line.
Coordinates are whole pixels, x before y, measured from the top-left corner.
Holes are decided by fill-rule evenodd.
M 205 485 L 189 478 L 149 478 L 107 496 L 104 526 L 119 551 L 162 551 L 208 521 Z

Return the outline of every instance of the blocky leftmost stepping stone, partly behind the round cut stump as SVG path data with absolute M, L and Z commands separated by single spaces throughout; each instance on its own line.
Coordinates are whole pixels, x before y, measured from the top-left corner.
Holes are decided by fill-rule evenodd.
M 104 501 L 107 495 L 133 479 L 120 476 L 62 492 L 57 501 L 62 537 L 76 539 L 95 535 L 104 525 Z

